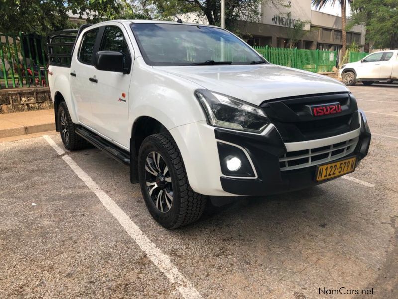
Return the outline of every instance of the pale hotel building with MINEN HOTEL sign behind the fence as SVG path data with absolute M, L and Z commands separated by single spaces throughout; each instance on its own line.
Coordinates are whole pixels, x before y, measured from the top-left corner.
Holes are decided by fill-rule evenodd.
M 252 46 L 289 47 L 290 28 L 304 22 L 304 35 L 295 44 L 299 49 L 336 51 L 341 49 L 341 17 L 312 10 L 311 0 L 288 1 L 288 7 L 264 4 L 259 23 L 239 21 L 244 39 Z M 347 20 L 348 23 L 348 20 Z M 354 26 L 347 30 L 347 44 L 355 41 L 363 49 L 365 27 Z

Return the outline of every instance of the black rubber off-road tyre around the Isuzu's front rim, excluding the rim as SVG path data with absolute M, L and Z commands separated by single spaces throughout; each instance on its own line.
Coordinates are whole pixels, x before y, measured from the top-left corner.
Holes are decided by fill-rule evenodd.
M 138 175 L 141 192 L 150 214 L 163 227 L 174 229 L 197 221 L 203 214 L 208 196 L 192 190 L 181 153 L 173 138 L 166 134 L 153 134 L 144 139 L 138 154 Z M 162 162 L 170 172 L 173 200 L 167 212 L 161 212 L 156 207 L 147 188 L 145 165 L 148 155 L 152 152 L 160 153 Z

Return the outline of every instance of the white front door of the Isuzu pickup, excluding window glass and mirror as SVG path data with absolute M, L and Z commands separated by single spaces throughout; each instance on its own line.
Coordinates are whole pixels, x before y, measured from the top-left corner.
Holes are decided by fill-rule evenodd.
M 126 71 L 121 73 L 92 69 L 90 74 L 97 79 L 91 97 L 93 128 L 108 139 L 129 148 L 128 90 L 134 51 L 121 24 L 103 26 L 100 32 L 103 34 L 99 50 L 122 53 Z

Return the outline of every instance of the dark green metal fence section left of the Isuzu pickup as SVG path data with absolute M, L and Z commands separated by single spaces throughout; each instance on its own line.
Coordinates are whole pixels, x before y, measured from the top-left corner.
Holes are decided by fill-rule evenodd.
M 45 38 L 0 33 L 0 89 L 48 86 Z

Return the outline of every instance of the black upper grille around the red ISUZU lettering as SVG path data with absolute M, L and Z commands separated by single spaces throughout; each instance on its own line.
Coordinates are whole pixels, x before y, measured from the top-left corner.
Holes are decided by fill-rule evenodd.
M 341 112 L 313 116 L 312 105 L 339 103 Z M 357 101 L 349 92 L 311 94 L 267 100 L 260 107 L 278 129 L 284 142 L 327 138 L 359 128 Z

